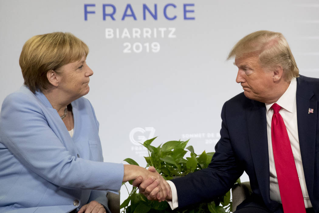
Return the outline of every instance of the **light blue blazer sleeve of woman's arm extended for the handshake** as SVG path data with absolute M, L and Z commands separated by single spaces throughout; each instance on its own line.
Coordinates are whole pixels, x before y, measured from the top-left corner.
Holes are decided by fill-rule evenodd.
M 123 164 L 76 157 L 56 134 L 61 124 L 54 119 L 54 110 L 24 93 L 9 95 L 0 114 L 1 142 L 26 168 L 58 186 L 119 190 Z

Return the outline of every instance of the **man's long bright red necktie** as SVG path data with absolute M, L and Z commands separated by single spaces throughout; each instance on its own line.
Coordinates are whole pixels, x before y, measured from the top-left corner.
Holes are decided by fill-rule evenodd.
M 286 125 L 279 114 L 281 106 L 274 103 L 271 108 L 274 110 L 271 119 L 272 150 L 282 206 L 285 213 L 306 213 Z

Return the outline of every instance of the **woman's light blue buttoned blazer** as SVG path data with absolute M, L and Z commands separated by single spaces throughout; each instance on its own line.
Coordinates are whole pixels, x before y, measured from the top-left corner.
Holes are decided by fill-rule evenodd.
M 74 134 L 41 92 L 22 86 L 0 113 L 0 212 L 67 213 L 120 190 L 123 164 L 103 162 L 91 103 L 71 103 Z M 79 201 L 79 202 L 77 202 Z

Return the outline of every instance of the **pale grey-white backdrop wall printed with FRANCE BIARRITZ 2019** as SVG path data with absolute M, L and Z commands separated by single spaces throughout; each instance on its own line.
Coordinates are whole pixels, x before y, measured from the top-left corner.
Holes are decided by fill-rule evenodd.
M 283 33 L 300 74 L 319 77 L 319 2 L 300 2 L 0 0 L 0 104 L 23 83 L 26 40 L 71 32 L 90 48 L 86 98 L 100 121 L 105 161 L 130 157 L 145 166 L 138 141 L 153 136 L 155 145 L 191 138 L 196 153 L 214 151 L 221 107 L 242 92 L 226 57 L 243 36 Z

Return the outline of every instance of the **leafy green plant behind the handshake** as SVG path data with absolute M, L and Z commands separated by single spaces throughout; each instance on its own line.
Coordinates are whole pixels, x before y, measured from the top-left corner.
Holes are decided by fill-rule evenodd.
M 155 137 L 156 138 L 156 137 Z M 182 177 L 190 172 L 196 172 L 204 169 L 211 162 L 214 152 L 206 153 L 205 151 L 197 155 L 192 146 L 186 147 L 187 141 L 168 141 L 164 144 L 154 147 L 151 145 L 152 138 L 145 141 L 142 145 L 148 150 L 145 157 L 146 167 L 154 166 L 160 175 L 166 180 L 176 177 Z M 184 158 L 186 153 L 190 152 L 190 157 Z M 131 158 L 124 159 L 129 164 L 138 165 Z M 132 184 L 133 181 L 129 181 Z M 237 180 L 240 183 L 240 179 Z M 124 184 L 125 185 L 125 184 Z M 126 187 L 126 185 L 125 185 Z M 230 191 L 228 191 L 219 200 L 208 203 L 199 203 L 189 206 L 187 209 L 171 210 L 167 202 L 149 201 L 143 194 L 138 193 L 138 188 L 133 186 L 129 197 L 121 204 L 120 208 L 125 213 L 146 213 L 146 212 L 176 212 L 176 213 L 225 213 L 231 212 L 232 202 L 230 200 Z

